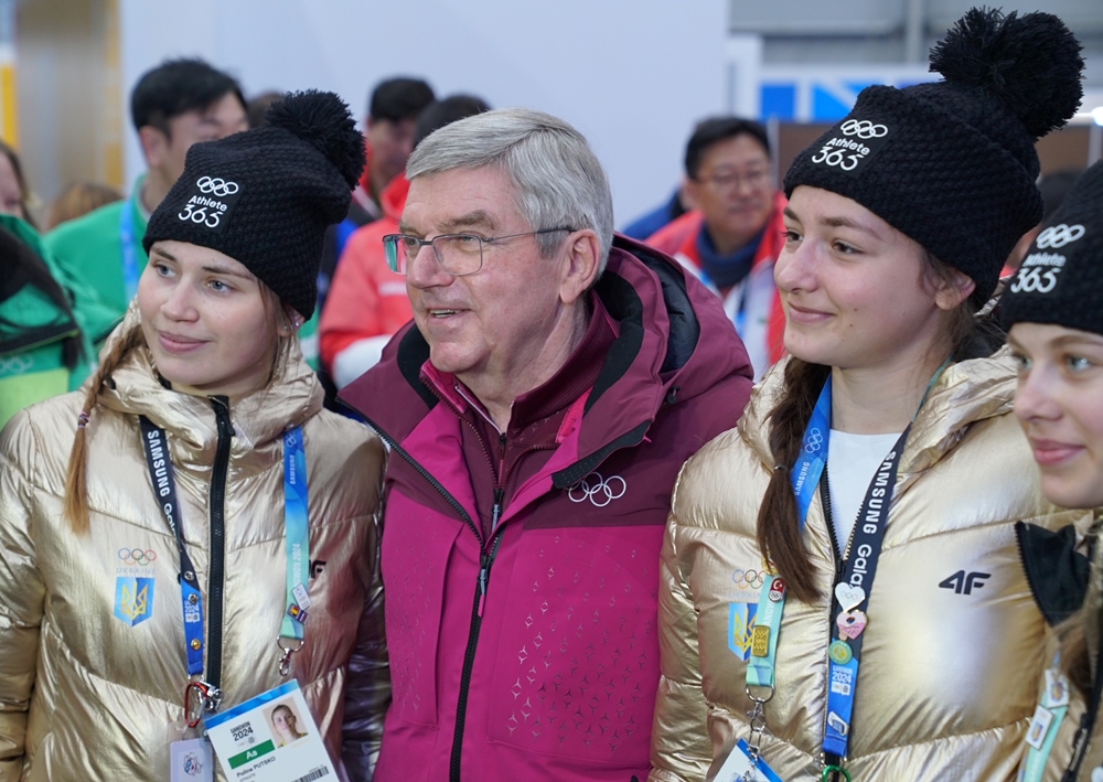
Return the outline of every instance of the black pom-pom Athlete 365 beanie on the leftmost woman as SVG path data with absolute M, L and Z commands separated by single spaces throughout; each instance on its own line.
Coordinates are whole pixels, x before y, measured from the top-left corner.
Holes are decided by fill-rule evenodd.
M 285 95 L 259 128 L 188 150 L 142 245 L 149 253 L 172 239 L 225 253 L 310 318 L 325 228 L 344 219 L 363 170 L 364 140 L 341 98 Z

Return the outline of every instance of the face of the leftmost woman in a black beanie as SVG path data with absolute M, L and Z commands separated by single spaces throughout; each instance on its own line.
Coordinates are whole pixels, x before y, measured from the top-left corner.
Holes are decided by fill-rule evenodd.
M 217 250 L 153 245 L 138 309 L 158 372 L 175 390 L 240 397 L 267 384 L 277 339 L 260 286 Z

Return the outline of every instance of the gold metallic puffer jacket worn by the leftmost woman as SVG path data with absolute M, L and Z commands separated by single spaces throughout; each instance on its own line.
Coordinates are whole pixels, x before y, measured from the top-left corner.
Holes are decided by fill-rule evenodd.
M 131 312 L 126 323 L 135 321 Z M 168 433 L 184 538 L 203 591 L 207 652 L 215 642 L 214 405 L 162 387 L 144 347 L 113 379 L 88 425 L 89 534 L 74 534 L 62 516 L 84 393 L 26 409 L 0 435 L 0 782 L 168 779 L 169 724 L 182 719 L 188 665 L 179 556 L 153 494 L 139 414 Z M 361 733 L 346 736 L 360 753 L 377 747 L 389 699 L 382 664 L 374 700 L 346 708 L 344 697 L 366 600 L 378 612 L 365 623 L 377 630 L 361 634 L 383 638 L 375 518 L 384 449 L 366 428 L 322 409 L 322 389 L 298 349 L 282 376 L 234 401 L 228 415 L 223 707 L 287 681 L 276 647 L 286 608 L 282 433 L 300 425 L 313 577 L 306 643 L 291 675 L 339 762 L 346 711 L 360 709 L 353 716 Z M 377 643 L 368 654 L 373 649 L 384 647 Z

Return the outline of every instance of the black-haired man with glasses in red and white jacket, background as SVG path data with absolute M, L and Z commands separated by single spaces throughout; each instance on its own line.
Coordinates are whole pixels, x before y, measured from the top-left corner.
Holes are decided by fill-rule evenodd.
M 773 285 L 785 196 L 774 186 L 765 128 L 739 117 L 703 120 L 686 144 L 685 175 L 692 211 L 647 244 L 682 261 L 721 298 L 758 379 L 781 357 L 785 331 Z

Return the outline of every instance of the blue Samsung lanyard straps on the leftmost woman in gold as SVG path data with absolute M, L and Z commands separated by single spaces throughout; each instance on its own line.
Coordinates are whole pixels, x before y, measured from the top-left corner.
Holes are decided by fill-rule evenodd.
M 204 710 L 215 711 L 222 693 L 205 682 L 203 676 L 203 596 L 200 592 L 195 567 L 188 555 L 181 529 L 180 503 L 172 461 L 169 456 L 164 430 L 144 416 L 139 417 L 142 446 L 149 468 L 153 493 L 161 504 L 161 513 L 176 542 L 180 555 L 180 600 L 184 620 L 184 647 L 188 654 L 188 676 L 195 682 L 202 696 Z M 296 427 L 283 436 L 283 523 L 287 554 L 287 608 L 280 628 L 278 644 L 283 650 L 280 674 L 287 676 L 291 654 L 302 647 L 304 624 L 310 607 L 308 580 L 310 578 L 310 526 L 308 517 L 307 454 L 303 449 L 302 429 Z M 286 640 L 295 644 L 286 643 Z M 191 684 L 185 704 L 190 704 Z

